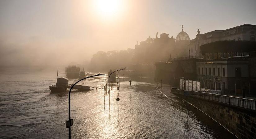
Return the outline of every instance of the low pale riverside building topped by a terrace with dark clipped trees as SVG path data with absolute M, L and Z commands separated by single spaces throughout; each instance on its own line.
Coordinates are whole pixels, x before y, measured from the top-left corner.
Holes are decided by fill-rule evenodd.
M 235 48 L 233 48 L 235 47 Z M 197 81 L 222 94 L 254 94 L 256 42 L 216 41 L 201 46 L 202 59 L 196 62 Z

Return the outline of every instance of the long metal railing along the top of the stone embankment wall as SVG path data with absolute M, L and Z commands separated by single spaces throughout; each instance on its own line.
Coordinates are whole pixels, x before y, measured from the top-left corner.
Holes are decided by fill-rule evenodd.
M 233 106 L 256 110 L 256 100 L 253 100 L 253 99 L 244 99 L 244 98 L 232 97 L 227 95 L 217 95 L 217 94 L 210 94 L 210 93 L 197 92 L 197 91 L 185 91 L 185 90 L 179 90 L 179 89 L 172 89 L 172 93 L 175 93 L 175 94 L 183 95 L 184 92 L 189 92 L 189 96 L 192 96 L 192 97 L 209 99 L 209 100 L 217 101 L 220 103 L 226 103 Z

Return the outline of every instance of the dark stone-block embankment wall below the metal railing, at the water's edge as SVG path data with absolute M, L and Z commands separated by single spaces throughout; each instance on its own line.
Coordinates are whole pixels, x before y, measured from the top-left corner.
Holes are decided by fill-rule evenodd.
M 186 100 L 184 95 L 176 94 Z M 256 139 L 256 111 L 229 104 L 187 97 L 187 101 L 241 139 Z

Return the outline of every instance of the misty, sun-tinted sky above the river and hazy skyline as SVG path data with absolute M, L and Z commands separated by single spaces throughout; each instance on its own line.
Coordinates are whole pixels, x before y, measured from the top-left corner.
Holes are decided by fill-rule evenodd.
M 0 0 L 0 65 L 67 65 L 156 32 L 190 39 L 256 24 L 256 0 Z M 116 4 L 115 2 L 118 2 Z

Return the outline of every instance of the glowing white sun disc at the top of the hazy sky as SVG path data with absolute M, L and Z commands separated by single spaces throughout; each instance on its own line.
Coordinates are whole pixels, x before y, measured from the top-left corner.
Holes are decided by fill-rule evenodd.
M 115 16 L 121 12 L 122 0 L 95 0 L 95 7 L 104 17 Z

